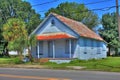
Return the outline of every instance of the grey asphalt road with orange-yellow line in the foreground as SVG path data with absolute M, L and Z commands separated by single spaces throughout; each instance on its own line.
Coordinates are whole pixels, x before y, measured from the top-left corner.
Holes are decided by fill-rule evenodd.
M 120 73 L 0 68 L 0 80 L 120 80 Z

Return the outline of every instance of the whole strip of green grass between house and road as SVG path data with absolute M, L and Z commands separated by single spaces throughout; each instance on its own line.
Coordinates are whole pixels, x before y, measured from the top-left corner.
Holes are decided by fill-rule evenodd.
M 68 66 L 80 66 L 85 67 L 83 70 L 97 70 L 97 71 L 111 71 L 111 72 L 120 72 L 120 57 L 108 57 L 106 59 L 92 59 L 92 60 L 78 60 L 74 59 L 70 63 L 62 63 L 62 64 L 56 64 L 52 62 L 47 62 L 44 64 L 40 63 L 23 63 L 20 61 L 18 57 L 12 57 L 12 58 L 0 58 L 0 66 L 2 67 L 2 64 L 6 65 L 25 65 L 30 67 L 40 67 L 40 66 L 47 66 L 47 68 L 50 69 L 71 69 L 68 68 Z M 36 67 L 36 68 L 37 68 Z

